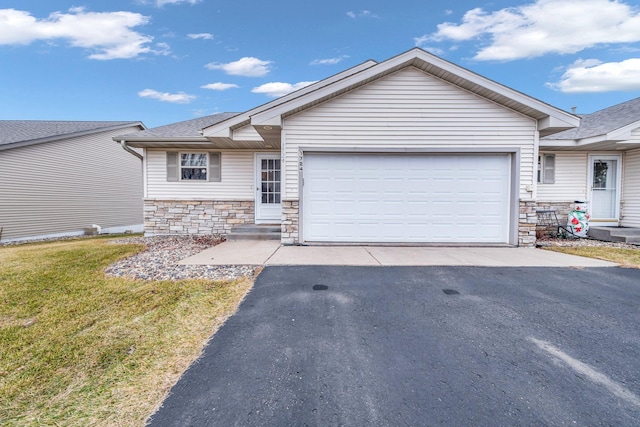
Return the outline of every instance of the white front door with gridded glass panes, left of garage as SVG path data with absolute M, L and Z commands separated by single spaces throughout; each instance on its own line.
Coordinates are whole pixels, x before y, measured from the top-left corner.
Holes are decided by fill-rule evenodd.
M 280 165 L 280 154 L 256 154 L 256 224 L 281 221 Z

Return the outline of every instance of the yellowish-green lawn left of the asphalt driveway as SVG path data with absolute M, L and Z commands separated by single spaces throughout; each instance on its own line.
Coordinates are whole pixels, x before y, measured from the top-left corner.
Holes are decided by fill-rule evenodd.
M 0 425 L 144 425 L 252 284 L 104 275 L 140 250 L 0 247 Z

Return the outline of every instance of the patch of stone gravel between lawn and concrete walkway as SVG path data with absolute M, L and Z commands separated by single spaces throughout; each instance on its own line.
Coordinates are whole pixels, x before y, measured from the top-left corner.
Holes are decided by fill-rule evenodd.
M 105 269 L 105 273 L 109 276 L 140 280 L 234 280 L 255 275 L 256 266 L 178 264 L 180 260 L 223 241 L 214 236 L 153 236 L 114 239 L 109 243 L 143 244 L 146 249 L 139 254 L 111 264 Z

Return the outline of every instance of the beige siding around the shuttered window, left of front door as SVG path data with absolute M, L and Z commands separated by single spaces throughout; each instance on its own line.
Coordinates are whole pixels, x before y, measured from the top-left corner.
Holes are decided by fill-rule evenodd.
M 180 151 L 180 150 L 171 150 Z M 160 200 L 253 200 L 254 152 L 231 150 L 182 150 L 192 153 L 221 153 L 220 182 L 167 181 L 166 150 L 147 150 L 146 193 L 149 199 Z

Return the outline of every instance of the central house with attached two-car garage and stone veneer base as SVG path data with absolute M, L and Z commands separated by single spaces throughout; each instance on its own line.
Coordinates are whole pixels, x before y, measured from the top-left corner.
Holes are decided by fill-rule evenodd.
M 145 232 L 281 224 L 284 244 L 535 242 L 538 142 L 580 118 L 421 49 L 144 149 Z

